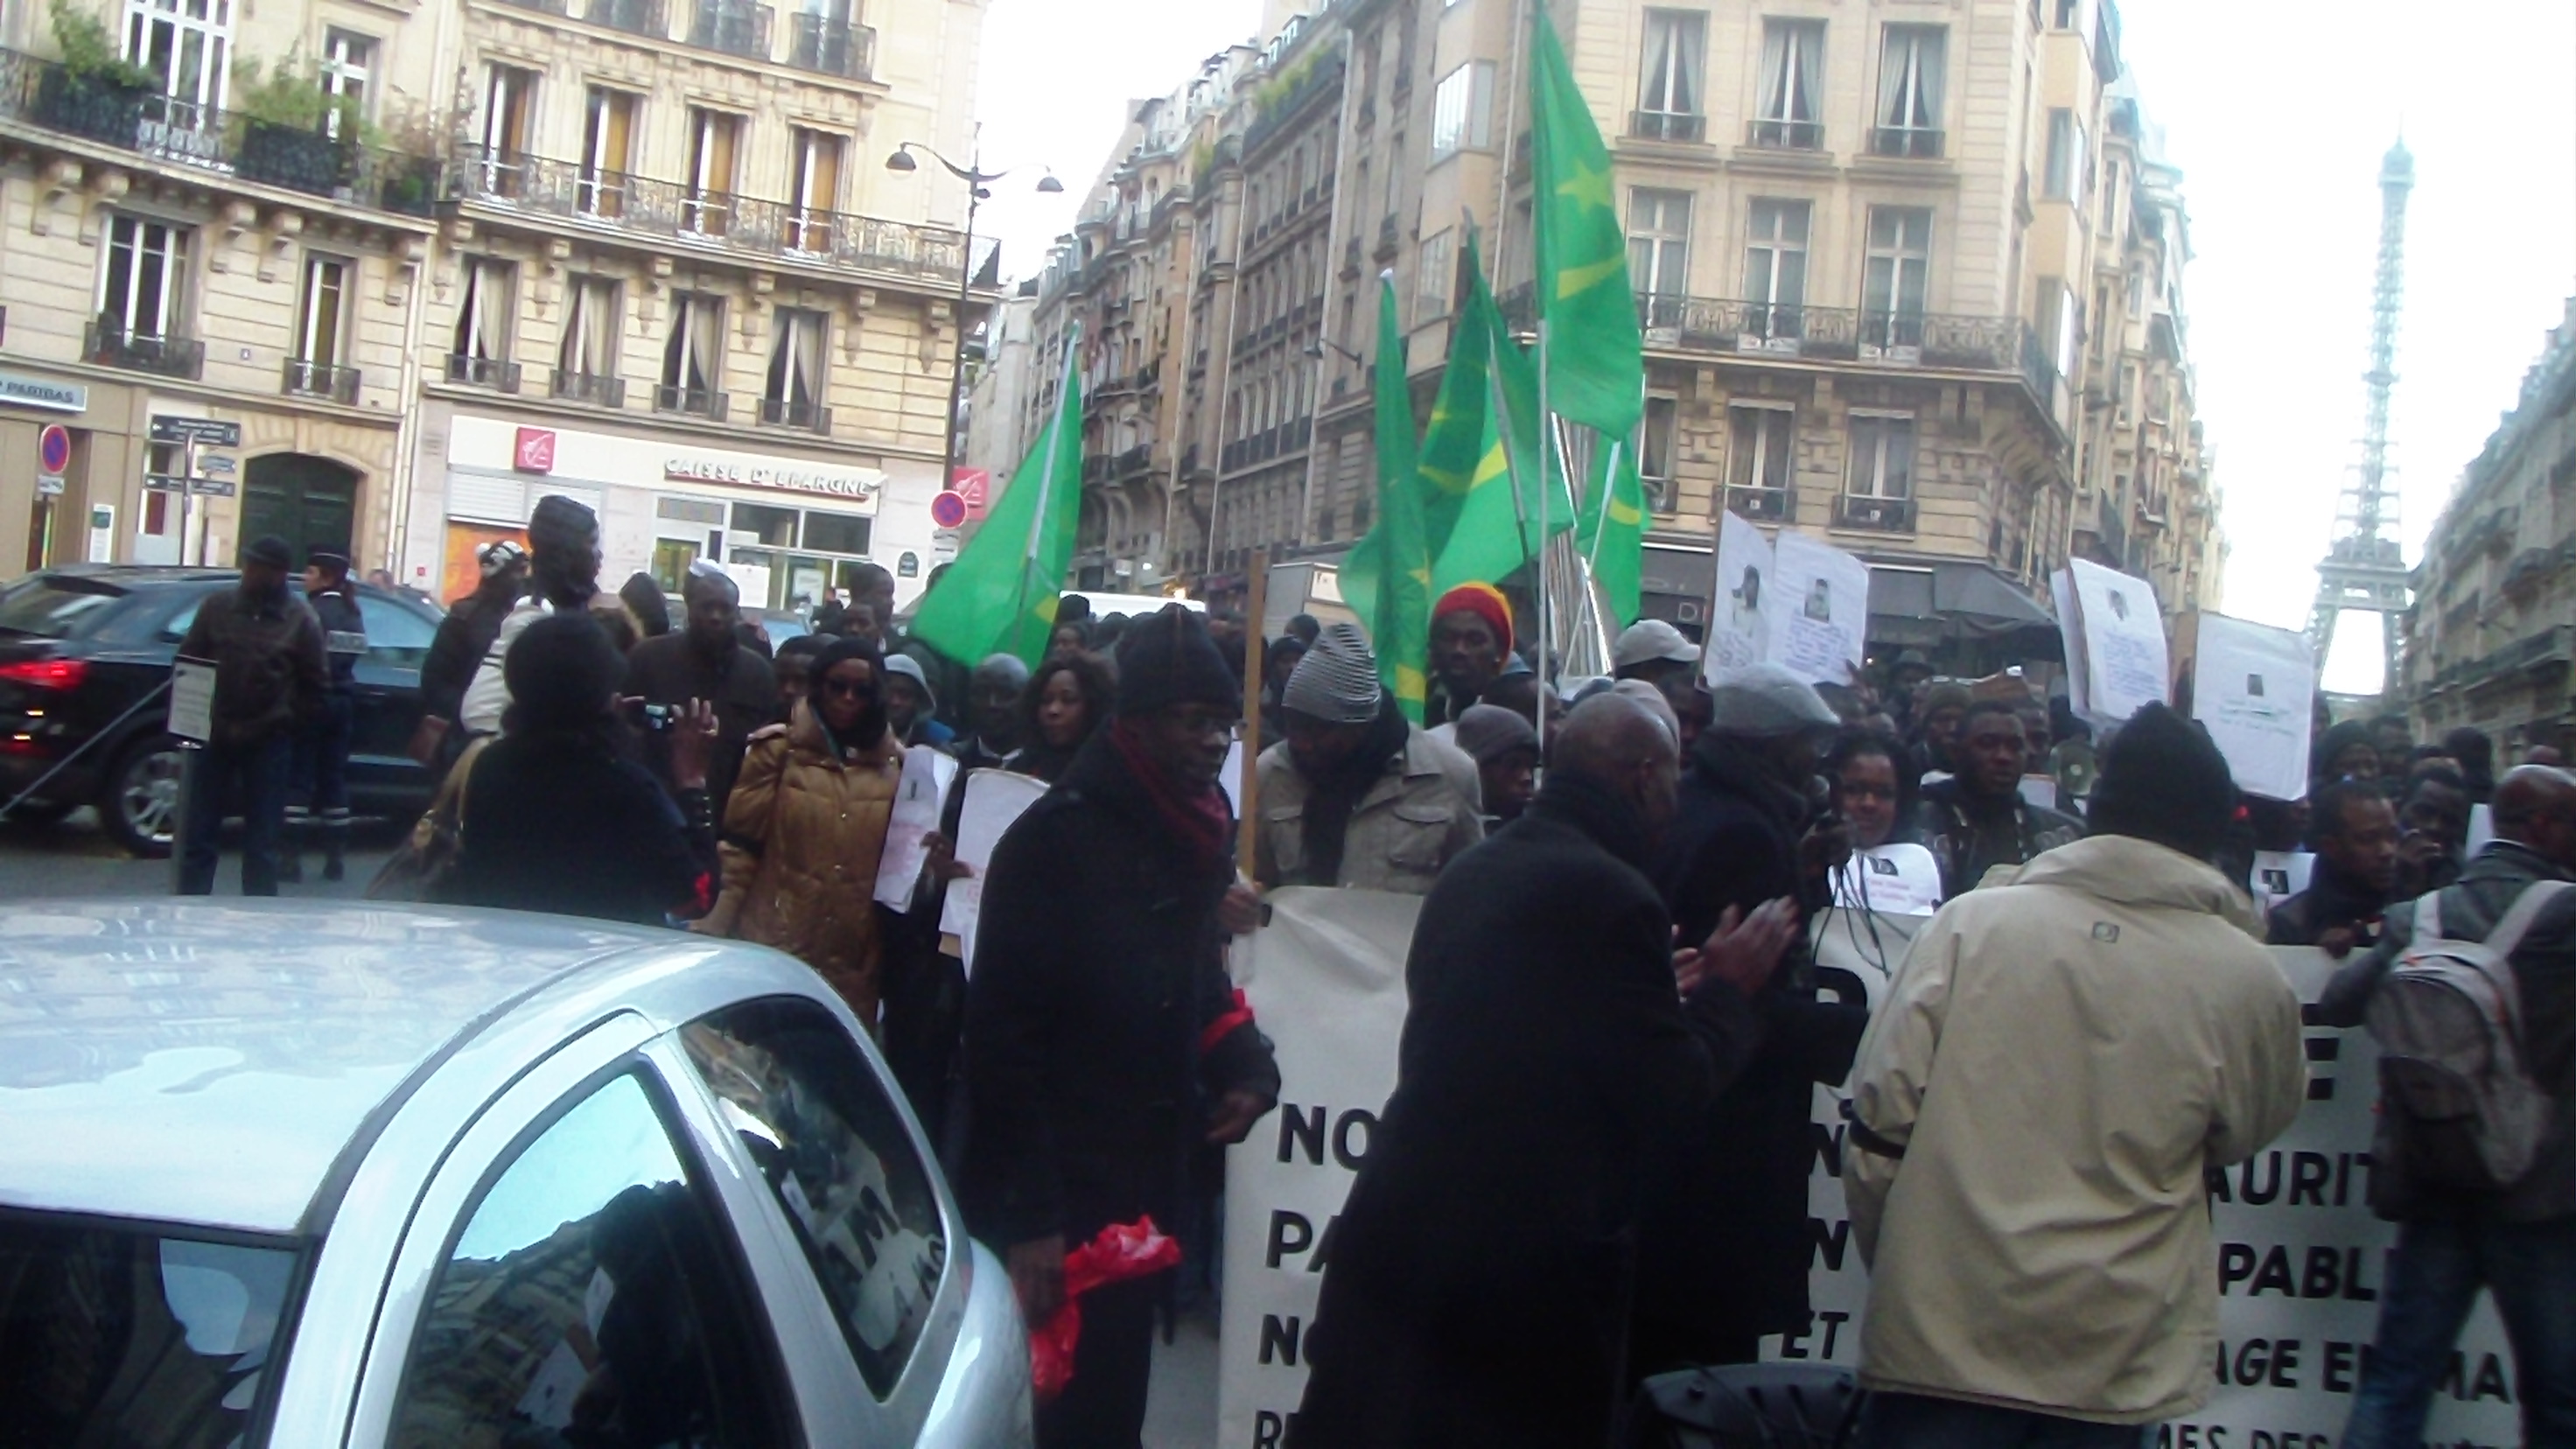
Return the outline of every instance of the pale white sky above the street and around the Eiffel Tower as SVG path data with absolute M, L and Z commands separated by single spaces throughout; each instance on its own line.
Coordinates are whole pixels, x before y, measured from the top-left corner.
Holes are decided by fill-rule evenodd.
M 1247 39 L 1257 0 L 994 0 L 984 157 L 1054 165 L 984 217 L 1028 276 L 1123 126 Z M 2362 425 L 2378 165 L 2416 157 L 2391 418 L 2406 559 L 2512 407 L 2576 291 L 2576 3 L 2130 0 L 2125 59 L 2192 214 L 2184 273 L 2200 418 L 2226 490 L 2226 611 L 2303 627 Z M 2329 688 L 2367 688 L 2378 637 L 2339 629 Z

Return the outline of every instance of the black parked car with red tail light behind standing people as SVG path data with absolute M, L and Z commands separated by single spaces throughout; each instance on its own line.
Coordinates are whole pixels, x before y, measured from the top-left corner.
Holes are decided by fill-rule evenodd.
M 237 583 L 234 570 L 214 567 L 64 565 L 0 590 L 0 807 L 44 779 L 10 820 L 59 820 L 95 804 L 124 848 L 170 851 L 180 753 L 162 730 L 170 696 L 155 691 L 170 678 L 196 606 Z M 404 745 L 420 727 L 420 660 L 438 608 L 361 585 L 358 614 L 366 655 L 350 807 L 407 820 L 430 802 L 430 776 Z

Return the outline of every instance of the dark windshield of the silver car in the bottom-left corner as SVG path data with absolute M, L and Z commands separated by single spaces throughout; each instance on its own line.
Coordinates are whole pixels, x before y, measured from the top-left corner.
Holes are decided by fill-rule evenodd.
M 255 1444 L 291 1243 L 0 1214 L 0 1439 Z

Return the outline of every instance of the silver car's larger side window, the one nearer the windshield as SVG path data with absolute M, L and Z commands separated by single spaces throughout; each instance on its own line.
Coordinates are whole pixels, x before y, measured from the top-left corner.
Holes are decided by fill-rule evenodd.
M 585 1088 L 466 1209 L 386 1441 L 778 1444 L 768 1325 L 708 1201 L 634 1073 Z

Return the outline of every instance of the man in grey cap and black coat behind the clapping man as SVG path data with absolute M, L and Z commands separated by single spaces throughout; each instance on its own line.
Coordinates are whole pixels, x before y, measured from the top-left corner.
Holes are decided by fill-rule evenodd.
M 1728 676 L 1710 701 L 1656 887 L 1685 941 L 1728 910 L 1785 900 L 1798 944 L 1754 995 L 1762 1055 L 1692 1124 L 1672 1191 L 1649 1207 L 1646 1256 L 1659 1271 L 1638 1302 L 1641 1374 L 1749 1364 L 1765 1333 L 1806 1328 L 1814 1085 L 1852 1070 L 1870 1024 L 1868 1003 L 1816 998 L 1806 951 L 1808 913 L 1829 902 L 1832 853 L 1850 848 L 1834 830 L 1808 833 L 1819 748 L 1839 722 L 1780 665 Z

